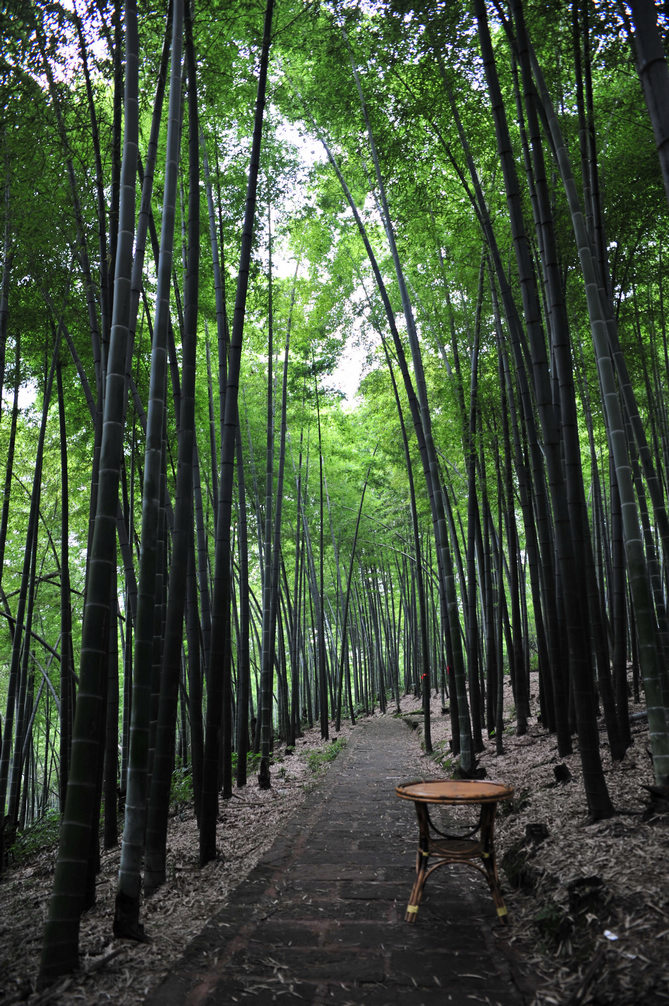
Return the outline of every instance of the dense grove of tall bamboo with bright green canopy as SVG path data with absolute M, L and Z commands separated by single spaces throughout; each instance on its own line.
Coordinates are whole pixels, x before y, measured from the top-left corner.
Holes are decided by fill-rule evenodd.
M 535 692 L 591 822 L 641 705 L 666 801 L 663 8 L 0 24 L 0 869 L 60 822 L 41 985 L 103 847 L 144 939 L 177 776 L 204 867 L 279 743 L 406 694 L 471 779 Z

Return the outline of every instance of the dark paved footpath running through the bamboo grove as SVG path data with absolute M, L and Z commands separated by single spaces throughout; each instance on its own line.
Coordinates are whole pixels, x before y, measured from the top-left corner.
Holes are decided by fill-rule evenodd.
M 438 870 L 415 924 L 404 921 L 417 827 L 394 788 L 416 778 L 415 765 L 415 734 L 404 722 L 382 716 L 356 725 L 272 849 L 146 1002 L 529 1003 L 488 886 L 471 868 Z

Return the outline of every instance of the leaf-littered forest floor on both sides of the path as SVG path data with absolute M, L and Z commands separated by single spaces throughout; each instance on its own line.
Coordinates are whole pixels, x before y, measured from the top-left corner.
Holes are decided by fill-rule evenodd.
M 429 759 L 422 751 L 417 710 L 412 696 L 402 698 L 401 713 L 419 724 L 416 778 L 448 776 L 450 717 L 435 698 Z M 345 739 L 351 729 L 343 724 L 339 737 Z M 617 814 L 596 824 L 588 818 L 577 753 L 560 759 L 554 737 L 535 718 L 520 737 L 509 724 L 503 754 L 496 754 L 489 741 L 479 757 L 487 778 L 515 789 L 497 823 L 509 909 L 504 939 L 532 974 L 538 989 L 534 1006 L 669 1003 L 669 815 L 649 810 L 643 788 L 652 784 L 645 720 L 635 721 L 634 737 L 625 761 L 612 764 L 603 735 L 606 779 Z M 56 848 L 50 844 L 10 864 L 0 878 L 0 1001 L 143 1002 L 272 845 L 305 799 L 315 771 L 323 771 L 333 752 L 323 745 L 317 727 L 300 738 L 295 753 L 278 748 L 271 790 L 261 791 L 252 777 L 245 789 L 221 801 L 220 857 L 202 870 L 192 807 L 175 810 L 167 883 L 143 905 L 149 944 L 112 937 L 120 853 L 104 852 L 98 901 L 81 919 L 81 968 L 42 993 L 35 991 L 35 979 Z M 568 769 L 568 782 L 556 783 L 558 765 Z

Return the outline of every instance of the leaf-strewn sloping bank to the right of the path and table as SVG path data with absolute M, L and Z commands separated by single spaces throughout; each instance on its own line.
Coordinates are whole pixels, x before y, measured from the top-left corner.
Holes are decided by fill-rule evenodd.
M 440 705 L 433 702 L 433 746 L 448 760 Z M 489 779 L 515 790 L 498 815 L 496 846 L 510 941 L 537 976 L 535 1006 L 669 1003 L 669 815 L 648 811 L 648 724 L 637 719 L 633 730 L 622 763 L 612 762 L 601 734 L 617 815 L 597 824 L 588 818 L 577 744 L 560 759 L 536 718 L 522 737 L 512 726 L 505 732 L 503 754 L 490 741 L 480 756 Z M 558 766 L 570 782 L 556 783 Z

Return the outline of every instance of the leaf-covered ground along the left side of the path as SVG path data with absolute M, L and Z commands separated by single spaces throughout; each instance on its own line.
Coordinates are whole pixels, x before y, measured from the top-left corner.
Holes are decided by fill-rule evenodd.
M 350 732 L 342 724 L 339 736 Z M 313 785 L 310 756 L 321 749 L 318 728 L 298 741 L 296 751 L 276 752 L 271 790 L 257 778 L 220 802 L 219 858 L 198 867 L 199 840 L 192 806 L 183 806 L 169 822 L 167 883 L 147 898 L 142 921 L 151 943 L 137 945 L 112 935 L 120 849 L 104 852 L 97 903 L 81 918 L 81 971 L 44 994 L 35 993 L 42 929 L 46 917 L 57 849 L 45 849 L 32 861 L 0 877 L 0 1002 L 115 1003 L 133 1006 L 178 961 L 184 946 L 225 903 L 270 848 Z

